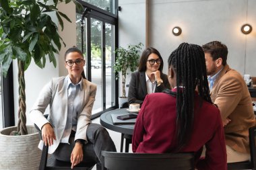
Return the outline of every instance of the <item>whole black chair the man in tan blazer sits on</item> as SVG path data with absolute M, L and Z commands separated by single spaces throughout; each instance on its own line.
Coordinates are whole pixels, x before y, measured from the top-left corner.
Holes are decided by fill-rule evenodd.
M 256 168 L 256 126 L 249 128 L 249 143 L 251 152 L 251 161 L 243 161 L 236 163 L 228 163 L 228 170 L 238 170 L 238 169 L 255 169 Z

